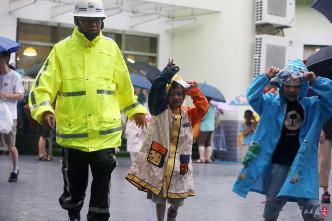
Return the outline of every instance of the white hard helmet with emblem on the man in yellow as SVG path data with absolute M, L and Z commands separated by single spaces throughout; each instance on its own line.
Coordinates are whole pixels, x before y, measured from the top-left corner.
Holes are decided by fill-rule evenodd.
M 76 0 L 72 16 L 106 17 L 102 0 Z

